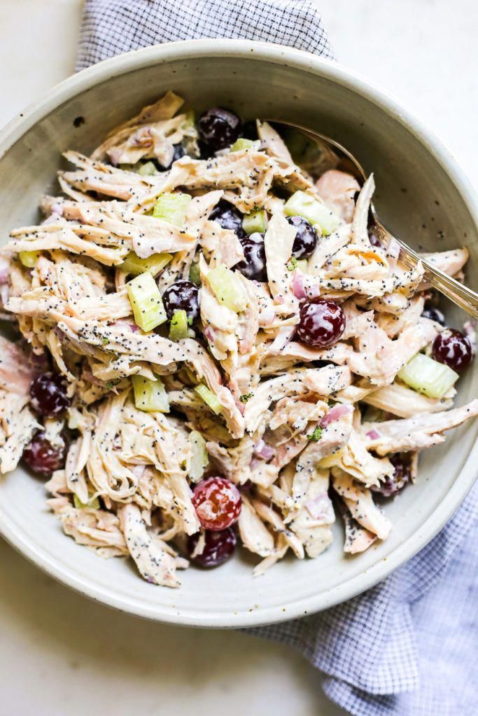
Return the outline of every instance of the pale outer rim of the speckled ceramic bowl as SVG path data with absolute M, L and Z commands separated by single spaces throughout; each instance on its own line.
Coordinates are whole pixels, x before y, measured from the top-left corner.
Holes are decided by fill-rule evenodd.
M 478 226 L 478 198 L 469 180 L 443 142 L 421 120 L 416 119 L 408 110 L 404 110 L 388 92 L 384 92 L 376 84 L 369 82 L 360 74 L 343 67 L 337 62 L 316 57 L 302 50 L 267 42 L 238 39 L 183 40 L 133 50 L 98 62 L 92 67 L 83 69 L 81 72 L 59 82 L 41 100 L 29 105 L 23 112 L 14 117 L 0 132 L 0 160 L 6 151 L 39 120 L 47 117 L 49 113 L 67 100 L 75 97 L 79 92 L 84 92 L 110 77 L 116 77 L 153 64 L 163 64 L 183 58 L 188 60 L 194 57 L 244 58 L 251 55 L 254 55 L 254 58 L 259 60 L 295 67 L 318 77 L 332 79 L 336 84 L 340 84 L 365 97 L 386 114 L 400 122 L 441 165 L 460 195 L 462 195 L 475 225 Z M 26 538 L 2 508 L 0 508 L 0 533 L 11 546 L 14 546 L 30 561 L 39 566 L 40 569 L 47 572 L 49 576 L 94 601 L 99 601 L 120 611 L 181 626 L 256 627 L 263 624 L 289 621 L 305 614 L 314 614 L 317 611 L 322 611 L 322 609 L 328 609 L 330 606 L 351 599 L 385 579 L 393 570 L 424 548 L 451 518 L 472 488 L 477 476 L 477 463 L 478 442 L 475 443 L 474 448 L 472 448 L 464 461 L 462 469 L 446 495 L 446 500 L 442 500 L 439 507 L 426 519 L 416 533 L 403 541 L 385 559 L 381 558 L 373 566 L 360 572 L 360 574 L 346 579 L 341 584 L 323 591 L 321 594 L 292 601 L 287 605 L 259 607 L 254 611 L 236 613 L 224 611 L 213 614 L 190 609 L 185 612 L 179 612 L 177 609 L 161 604 L 146 604 L 140 599 L 135 600 L 123 595 L 118 596 L 113 589 L 98 586 L 93 579 L 85 579 L 76 574 L 74 569 L 59 565 L 46 549 L 39 548 L 34 541 Z M 284 606 L 287 606 L 286 611 L 283 609 Z

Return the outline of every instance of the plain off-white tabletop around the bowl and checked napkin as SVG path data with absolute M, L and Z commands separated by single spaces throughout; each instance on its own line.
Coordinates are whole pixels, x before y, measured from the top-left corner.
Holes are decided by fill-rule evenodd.
M 0 125 L 72 72 L 80 0 L 1 0 Z M 476 0 L 317 0 L 336 54 L 444 137 L 474 179 Z M 475 184 L 476 185 L 476 184 Z M 164 627 L 56 584 L 0 541 L 6 715 L 338 716 L 312 667 L 236 632 Z

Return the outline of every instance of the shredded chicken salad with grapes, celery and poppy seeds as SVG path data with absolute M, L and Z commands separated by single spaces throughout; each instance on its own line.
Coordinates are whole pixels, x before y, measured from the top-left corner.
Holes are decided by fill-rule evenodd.
M 167 92 L 0 249 L 0 473 L 46 481 L 65 534 L 177 587 L 240 543 L 254 574 L 384 540 L 454 406 L 474 326 L 368 230 L 360 186 L 268 122 Z M 302 161 L 301 161 L 302 159 Z M 467 248 L 427 254 L 463 276 Z

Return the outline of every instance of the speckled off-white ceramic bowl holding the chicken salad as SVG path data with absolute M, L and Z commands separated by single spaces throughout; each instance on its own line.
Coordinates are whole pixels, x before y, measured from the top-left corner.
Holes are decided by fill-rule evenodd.
M 62 151 L 88 152 L 166 89 L 199 112 L 229 105 L 245 118 L 276 117 L 336 137 L 376 173 L 376 204 L 391 230 L 425 250 L 467 245 L 468 280 L 478 288 L 477 200 L 436 137 L 340 65 L 246 41 L 178 42 L 121 55 L 70 77 L 19 115 L 0 136 L 4 240 L 9 228 L 37 218 L 39 196 L 54 190 Z M 449 315 L 459 326 L 463 315 L 451 307 Z M 477 395 L 477 382 L 475 367 L 460 382 L 458 404 Z M 477 429 L 477 422 L 464 425 L 421 456 L 416 485 L 386 508 L 393 531 L 385 543 L 346 558 L 337 523 L 322 556 L 285 559 L 259 579 L 252 578 L 254 560 L 242 554 L 216 571 L 181 573 L 181 589 L 146 584 L 132 563 L 103 561 L 64 536 L 45 508 L 42 483 L 21 469 L 0 480 L 0 528 L 56 579 L 123 611 L 201 627 L 292 619 L 368 589 L 434 536 L 477 474 Z

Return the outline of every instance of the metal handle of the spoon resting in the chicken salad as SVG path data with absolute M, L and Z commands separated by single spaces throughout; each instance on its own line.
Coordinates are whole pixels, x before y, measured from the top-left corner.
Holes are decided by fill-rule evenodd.
M 374 228 L 379 229 L 378 233 L 381 234 L 381 236 L 378 238 L 385 238 L 386 243 L 391 240 L 391 233 L 389 233 L 386 228 L 381 225 L 378 227 L 374 226 Z M 395 238 L 395 241 L 400 245 L 401 258 L 407 269 L 413 269 L 414 266 L 421 261 L 424 267 L 424 279 L 428 281 L 434 289 L 437 289 L 437 291 L 440 291 L 441 294 L 446 296 L 447 299 L 453 301 L 460 309 L 466 311 L 469 316 L 478 320 L 478 294 L 476 291 L 472 291 L 468 286 L 460 284 L 457 279 L 452 279 L 451 276 L 445 274 L 444 271 L 437 269 L 433 263 L 426 261 L 426 258 L 420 256 L 419 253 L 401 241 L 401 239 Z

